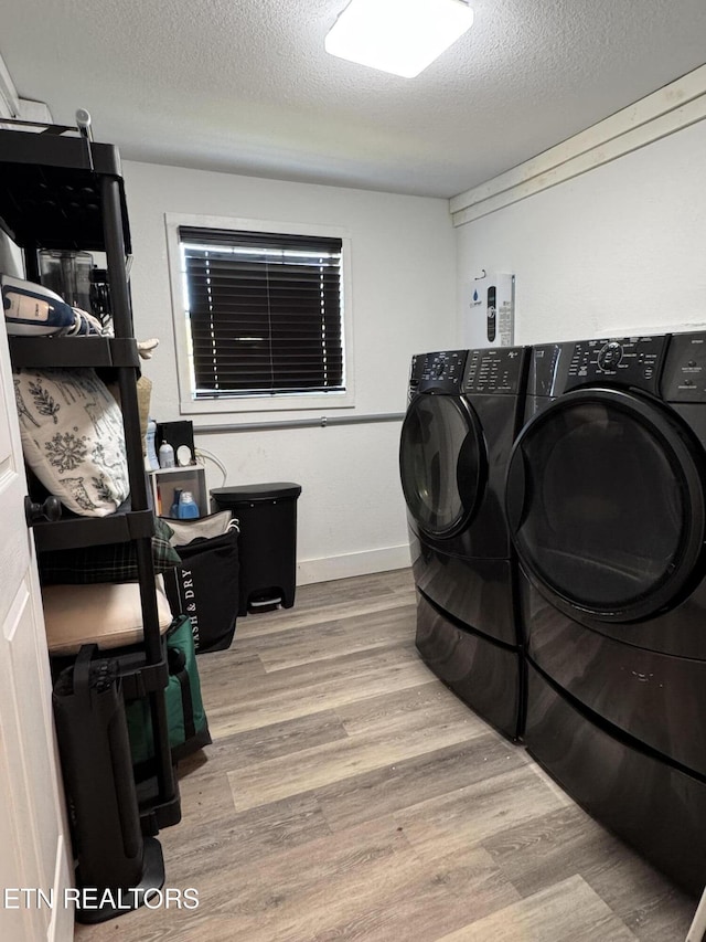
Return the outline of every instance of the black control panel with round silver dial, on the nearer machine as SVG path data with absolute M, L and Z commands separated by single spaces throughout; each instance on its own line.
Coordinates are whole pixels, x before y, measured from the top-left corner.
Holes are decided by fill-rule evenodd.
M 602 340 L 580 340 L 568 346 L 567 391 L 586 383 L 609 380 L 611 385 L 629 385 L 656 393 L 664 361 L 667 337 L 621 337 Z

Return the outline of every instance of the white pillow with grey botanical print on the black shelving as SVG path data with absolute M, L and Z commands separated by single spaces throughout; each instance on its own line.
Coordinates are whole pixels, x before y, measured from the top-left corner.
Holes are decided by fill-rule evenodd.
M 74 514 L 107 517 L 130 493 L 122 414 L 93 369 L 13 372 L 24 459 Z

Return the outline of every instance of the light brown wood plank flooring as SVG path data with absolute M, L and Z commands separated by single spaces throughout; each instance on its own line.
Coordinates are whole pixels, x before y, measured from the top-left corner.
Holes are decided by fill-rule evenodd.
M 302 586 L 199 657 L 167 886 L 77 942 L 683 942 L 696 901 L 440 684 L 408 570 Z

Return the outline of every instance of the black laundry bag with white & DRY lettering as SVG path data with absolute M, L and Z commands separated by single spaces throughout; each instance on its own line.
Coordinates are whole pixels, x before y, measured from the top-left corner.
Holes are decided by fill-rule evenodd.
M 194 533 L 206 520 L 191 521 Z M 181 567 L 163 575 L 172 613 L 191 618 L 196 654 L 225 650 L 233 641 L 238 613 L 238 531 L 233 528 L 217 537 L 196 537 L 174 549 Z

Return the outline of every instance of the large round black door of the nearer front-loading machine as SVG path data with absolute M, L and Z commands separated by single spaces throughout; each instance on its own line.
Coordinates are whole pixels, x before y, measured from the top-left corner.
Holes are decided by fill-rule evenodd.
M 666 409 L 620 390 L 567 393 L 513 448 L 506 511 L 523 568 L 576 617 L 663 611 L 704 542 L 703 458 Z

